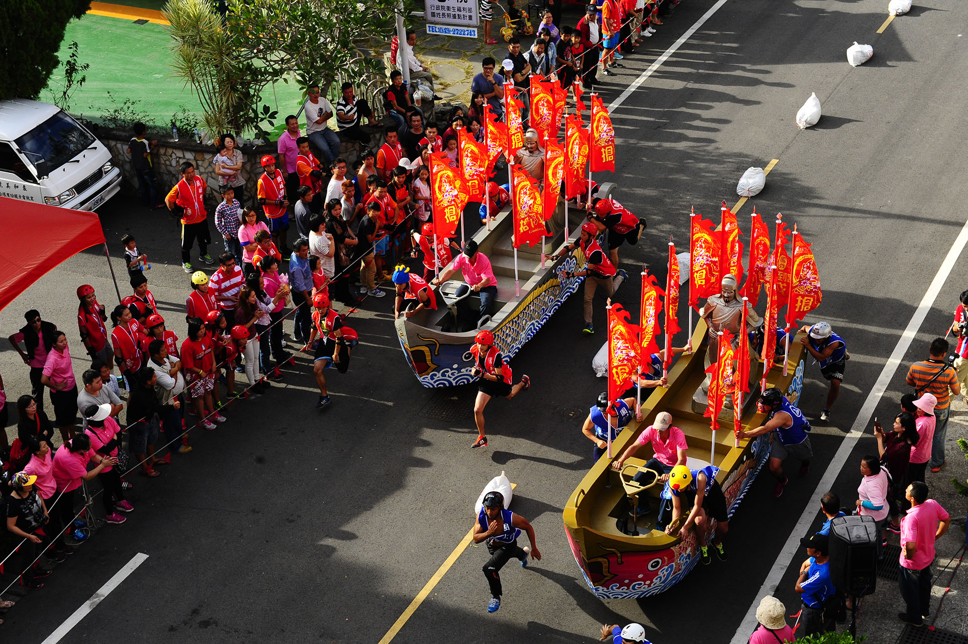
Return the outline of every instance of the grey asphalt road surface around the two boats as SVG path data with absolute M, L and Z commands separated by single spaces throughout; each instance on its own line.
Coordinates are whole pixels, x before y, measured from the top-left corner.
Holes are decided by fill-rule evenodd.
M 826 383 L 818 367 L 807 370 L 802 409 L 816 422 L 813 469 L 792 476 L 778 500 L 761 475 L 731 523 L 728 562 L 713 559 L 648 600 L 601 601 L 586 588 L 560 513 L 590 466 L 579 427 L 605 388 L 590 369 L 605 338 L 580 333 L 580 296 L 515 359 L 515 373 L 529 374 L 533 386 L 489 405 L 491 444 L 474 451 L 473 390 L 419 387 L 393 335 L 390 298 L 371 299 L 355 316 L 362 342 L 348 374 L 329 377 L 331 408 L 313 408 L 305 358 L 286 369 L 284 386 L 233 404 L 229 422 L 197 432 L 195 451 L 173 457 L 164 476 L 132 477 L 129 521 L 107 526 L 43 591 L 19 602 L 4 640 L 41 642 L 140 552 L 147 560 L 60 641 L 376 642 L 461 542 L 474 499 L 503 470 L 518 484 L 513 510 L 533 523 L 544 558 L 527 571 L 505 567 L 503 602 L 489 615 L 486 550 L 465 548 L 394 642 L 590 642 L 602 623 L 629 621 L 644 624 L 655 643 L 730 641 L 794 525 L 816 512 L 808 499 L 965 223 L 968 60 L 959 32 L 968 8 L 933 4 L 876 34 L 884 0 L 727 0 L 614 111 L 616 196 L 649 219 L 639 246 L 620 249 L 629 274 L 647 262 L 664 279 L 669 236 L 682 249 L 688 243 L 690 206 L 715 219 L 720 200 L 736 202 L 747 167 L 778 159 L 766 190 L 741 208 L 744 240 L 754 205 L 766 220 L 782 212 L 798 225 L 821 275 L 816 316 L 850 349 L 830 423 L 817 421 Z M 602 85 L 605 103 L 712 6 L 681 4 Z M 857 69 L 844 53 L 854 41 L 874 47 Z M 794 117 L 811 92 L 824 116 L 801 132 Z M 102 215 L 115 256 L 120 236 L 136 234 L 155 265 L 152 290 L 182 336 L 188 278 L 174 224 L 122 198 Z M 956 262 L 875 416 L 897 409 L 906 366 L 944 335 L 966 278 Z M 92 250 L 38 282 L 0 322 L 13 331 L 23 310 L 39 307 L 73 329 L 82 281 L 113 301 L 104 259 Z M 617 299 L 635 307 L 637 292 L 633 277 Z M 598 306 L 596 327 L 604 321 Z M 77 344 L 76 333 L 69 338 Z M 15 354 L 2 357 L 8 393 L 26 391 Z M 854 498 L 860 456 L 873 449 L 868 433 L 834 489 Z M 796 565 L 777 591 L 787 606 L 796 605 Z

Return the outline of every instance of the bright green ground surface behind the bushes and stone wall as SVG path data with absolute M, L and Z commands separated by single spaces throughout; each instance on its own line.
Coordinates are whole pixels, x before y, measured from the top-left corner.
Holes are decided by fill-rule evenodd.
M 157 8 L 152 0 L 126 4 Z M 191 88 L 171 76 L 168 67 L 171 39 L 165 26 L 88 14 L 68 25 L 59 53 L 61 59 L 66 58 L 67 45 L 72 41 L 78 44 L 79 61 L 91 66 L 86 72 L 86 82 L 71 100 L 73 113 L 97 121 L 128 99 L 137 101 L 135 108 L 147 114 L 147 123 L 163 128 L 167 128 L 171 115 L 182 107 L 200 116 L 201 106 Z M 52 77 L 60 73 L 57 70 Z M 56 83 L 52 86 L 56 87 Z M 42 92 L 40 98 L 50 101 L 47 92 Z M 275 96 L 270 86 L 263 93 L 263 101 L 273 108 L 278 105 L 280 115 L 286 116 L 299 109 L 301 91 L 291 83 L 279 82 Z M 277 125 L 278 132 L 282 132 L 283 126 Z

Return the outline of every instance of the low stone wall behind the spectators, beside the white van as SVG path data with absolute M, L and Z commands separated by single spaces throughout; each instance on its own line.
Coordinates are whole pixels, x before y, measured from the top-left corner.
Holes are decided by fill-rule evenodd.
M 382 128 L 366 128 L 371 135 L 371 146 L 376 151 L 383 144 Z M 137 192 L 137 178 L 135 169 L 131 163 L 131 155 L 126 150 L 128 142 L 131 141 L 130 131 L 110 130 L 99 128 L 94 132 L 95 135 L 107 146 L 113 157 L 114 163 L 121 169 L 123 176 L 121 190 L 132 195 Z M 341 137 L 342 138 L 342 137 Z M 242 166 L 242 176 L 246 180 L 246 199 L 251 202 L 253 195 L 256 194 L 256 182 L 262 174 L 259 160 L 264 155 L 276 156 L 276 144 L 267 143 L 260 146 L 243 146 L 239 148 L 245 156 L 245 164 Z M 343 140 L 340 146 L 340 154 L 349 162 L 350 168 L 353 161 L 356 161 L 363 147 L 357 141 Z M 159 138 L 158 145 L 152 152 L 152 162 L 154 163 L 155 174 L 158 176 L 159 188 L 170 190 L 181 179 L 178 167 L 183 161 L 192 161 L 198 175 L 205 179 L 211 190 L 209 190 L 207 201 L 211 207 L 219 201 L 218 177 L 215 174 L 216 150 L 212 144 L 198 143 L 191 138 L 181 138 L 172 141 L 170 138 Z

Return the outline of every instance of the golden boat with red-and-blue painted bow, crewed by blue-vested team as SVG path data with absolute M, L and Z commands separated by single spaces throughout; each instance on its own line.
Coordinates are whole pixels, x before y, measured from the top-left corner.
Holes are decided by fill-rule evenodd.
M 791 338 L 793 339 L 793 338 Z M 650 473 L 645 464 L 650 458 L 650 445 L 641 447 L 635 457 L 625 460 L 621 471 L 612 466 L 632 444 L 643 429 L 652 424 L 656 414 L 669 412 L 673 425 L 685 433 L 689 449 L 687 466 L 698 469 L 710 464 L 719 468 L 716 481 L 726 497 L 729 516 L 740 507 L 749 486 L 763 469 L 770 454 L 771 434 L 753 439 L 741 439 L 736 447 L 733 431 L 733 410 L 724 409 L 719 418 L 719 429 L 714 439 L 710 419 L 704 410 L 696 406 L 693 395 L 706 375 L 704 356 L 708 346 L 707 326 L 699 321 L 692 345 L 699 349 L 689 355 L 683 354 L 669 371 L 669 387 L 656 388 L 642 403 L 643 419 L 634 420 L 623 429 L 612 443 L 613 457 L 603 455 L 591 467 L 578 487 L 572 492 L 564 507 L 564 531 L 571 552 L 588 583 L 591 592 L 601 599 L 636 599 L 650 597 L 669 590 L 681 581 L 699 561 L 699 543 L 695 530 L 682 540 L 674 532 L 667 535 L 655 530 L 659 496 L 663 483 L 644 486 L 631 481 L 639 471 Z M 783 358 L 777 359 L 767 374 L 767 387 L 775 387 L 794 404 L 800 397 L 803 381 L 804 348 L 800 342 L 791 342 L 787 358 L 787 372 L 783 375 Z M 755 360 L 755 358 L 754 358 Z M 759 366 L 756 366 L 756 365 Z M 756 388 L 744 396 L 740 411 L 745 429 L 753 429 L 766 421 L 757 411 L 756 398 L 762 380 L 763 363 L 757 361 L 750 367 L 751 382 Z M 650 512 L 637 517 L 631 512 L 635 496 L 650 497 Z M 683 509 L 685 512 L 685 509 Z M 707 526 L 707 538 L 715 531 L 716 521 Z

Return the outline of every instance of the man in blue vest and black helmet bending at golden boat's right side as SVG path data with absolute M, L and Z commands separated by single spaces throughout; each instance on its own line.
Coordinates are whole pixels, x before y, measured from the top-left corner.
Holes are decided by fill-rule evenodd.
M 790 456 L 800 458 L 800 476 L 805 477 L 810 471 L 810 458 L 813 448 L 810 447 L 810 422 L 780 390 L 772 387 L 760 395 L 757 406 L 761 412 L 769 414 L 767 424 L 761 424 L 749 431 L 740 430 L 740 438 L 755 438 L 768 431 L 776 432 L 776 440 L 770 449 L 770 473 L 776 479 L 773 496 L 783 494 L 783 488 L 790 480 L 783 476 L 783 461 Z

